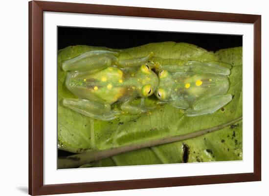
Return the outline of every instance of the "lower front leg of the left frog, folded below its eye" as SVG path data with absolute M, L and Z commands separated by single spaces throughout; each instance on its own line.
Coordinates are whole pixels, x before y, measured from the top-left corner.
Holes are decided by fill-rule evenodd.
M 131 98 L 127 101 L 125 101 L 120 108 L 126 112 L 129 112 L 131 114 L 139 114 L 139 113 L 145 113 L 148 112 L 152 109 L 154 109 L 154 107 L 148 107 L 145 105 L 145 98 L 141 98 L 141 102 L 140 105 L 132 105 L 131 102 L 134 99 Z

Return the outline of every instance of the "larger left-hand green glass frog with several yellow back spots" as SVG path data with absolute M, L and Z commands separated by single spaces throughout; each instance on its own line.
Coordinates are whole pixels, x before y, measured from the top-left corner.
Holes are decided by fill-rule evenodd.
M 90 51 L 63 62 L 68 71 L 67 89 L 77 98 L 64 98 L 63 105 L 100 120 L 111 120 L 123 111 L 137 114 L 147 112 L 144 98 L 151 96 L 157 88 L 157 75 L 148 65 L 148 57 L 118 60 L 111 51 Z M 131 102 L 141 97 L 140 105 Z M 112 109 L 120 102 L 121 110 Z

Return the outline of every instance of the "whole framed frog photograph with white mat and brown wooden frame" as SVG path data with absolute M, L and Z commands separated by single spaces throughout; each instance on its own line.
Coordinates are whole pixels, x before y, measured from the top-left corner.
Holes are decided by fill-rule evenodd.
M 29 194 L 261 180 L 261 16 L 29 2 Z

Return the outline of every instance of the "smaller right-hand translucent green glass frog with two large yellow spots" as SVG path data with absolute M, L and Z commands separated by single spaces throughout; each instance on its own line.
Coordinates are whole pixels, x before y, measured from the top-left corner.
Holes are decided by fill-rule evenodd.
M 211 114 L 232 100 L 227 76 L 230 70 L 216 62 L 188 61 L 164 65 L 158 73 L 155 95 L 160 103 L 184 109 L 186 116 Z

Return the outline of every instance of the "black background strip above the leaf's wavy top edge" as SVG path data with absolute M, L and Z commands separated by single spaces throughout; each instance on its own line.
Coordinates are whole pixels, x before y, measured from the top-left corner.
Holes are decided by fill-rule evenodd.
M 200 46 L 208 51 L 242 46 L 242 36 L 164 31 L 138 31 L 97 28 L 58 27 L 58 49 L 70 45 L 130 48 L 151 42 L 175 41 Z

